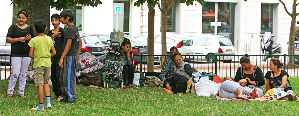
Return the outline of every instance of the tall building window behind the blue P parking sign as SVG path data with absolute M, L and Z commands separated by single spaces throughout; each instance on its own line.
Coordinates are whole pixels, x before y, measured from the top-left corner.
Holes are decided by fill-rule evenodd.
M 116 7 L 120 7 L 120 13 L 116 13 Z M 113 31 L 129 33 L 130 31 L 130 0 L 113 1 Z

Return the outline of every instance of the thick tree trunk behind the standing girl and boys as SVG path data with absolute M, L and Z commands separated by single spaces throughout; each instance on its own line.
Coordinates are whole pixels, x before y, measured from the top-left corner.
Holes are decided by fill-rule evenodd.
M 24 0 L 24 9 L 28 12 L 28 20 L 26 23 L 33 28 L 36 20 L 44 20 L 47 26 L 45 34 L 47 34 L 50 29 L 50 1 L 51 0 Z M 37 36 L 36 31 L 34 34 Z M 28 71 L 30 70 L 33 70 L 33 60 L 30 61 L 28 67 Z

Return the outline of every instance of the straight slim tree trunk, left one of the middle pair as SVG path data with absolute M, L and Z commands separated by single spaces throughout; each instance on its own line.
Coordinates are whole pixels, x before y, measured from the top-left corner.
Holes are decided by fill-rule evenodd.
M 148 32 L 147 32 L 147 54 L 154 55 L 154 23 L 155 23 L 155 5 L 149 5 L 148 13 Z M 147 71 L 154 71 L 154 57 L 147 57 Z

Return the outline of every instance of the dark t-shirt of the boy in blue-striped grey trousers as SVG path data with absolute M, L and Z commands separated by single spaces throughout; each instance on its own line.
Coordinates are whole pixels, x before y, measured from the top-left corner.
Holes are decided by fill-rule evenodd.
M 63 41 L 63 50 L 65 48 L 67 39 L 72 39 L 71 47 L 68 50 L 67 56 L 75 56 L 78 52 L 79 47 L 79 31 L 75 25 L 69 26 L 65 31 L 64 41 Z

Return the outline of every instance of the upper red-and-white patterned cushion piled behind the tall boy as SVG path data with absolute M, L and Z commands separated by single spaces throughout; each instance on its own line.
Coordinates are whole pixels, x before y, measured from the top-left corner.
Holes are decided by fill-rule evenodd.
M 97 57 L 93 54 L 86 52 L 80 55 L 80 61 L 76 68 L 76 71 L 86 69 L 87 67 L 93 66 L 98 63 Z

